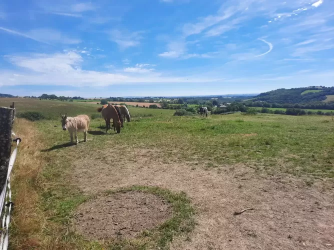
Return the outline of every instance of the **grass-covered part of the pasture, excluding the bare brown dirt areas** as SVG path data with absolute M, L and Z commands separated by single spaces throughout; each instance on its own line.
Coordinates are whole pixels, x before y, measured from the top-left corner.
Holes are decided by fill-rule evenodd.
M 97 113 L 98 105 L 0 98 L 0 106 L 7 106 L 12 101 L 15 101 L 18 112 L 34 110 L 48 117 L 36 122 L 18 119 L 16 124 L 20 137 L 34 138 L 35 142 L 32 141 L 34 147 L 29 148 L 29 145 L 26 145 L 23 152 L 27 153 L 24 156 L 19 149 L 19 162 L 23 161 L 20 157 L 25 157 L 27 162 L 24 167 L 15 167 L 14 170 L 14 200 L 18 201 L 18 208 L 14 213 L 15 243 L 12 249 L 27 249 L 27 245 L 50 249 L 54 242 L 57 244 L 55 243 L 53 249 L 153 249 L 157 246 L 167 249 L 164 247 L 168 247 L 173 238 L 184 237 L 186 241 L 189 239 L 188 233 L 194 226 L 194 211 L 188 206 L 189 199 L 182 193 L 186 187 L 178 187 L 168 193 L 159 191 L 160 189 L 155 191 L 165 195 L 171 202 L 178 200 L 176 197 L 181 197 L 180 201 L 175 201 L 179 202 L 175 206 L 175 216 L 180 214 L 177 207 L 188 207 L 185 214 L 176 216 L 175 221 L 168 224 L 168 230 L 163 226 L 152 229 L 152 235 L 160 235 L 159 237 L 141 235 L 140 240 L 128 241 L 85 239 L 73 229 L 71 221 L 78 205 L 97 195 L 85 188 L 87 183 L 94 181 L 94 177 L 90 175 L 94 172 L 86 173 L 87 169 L 91 168 L 94 171 L 96 167 L 103 166 L 104 170 L 96 172 L 105 172 L 105 166 L 108 165 L 114 169 L 114 182 L 109 181 L 111 177 L 106 176 L 96 179 L 100 181 L 106 178 L 100 189 L 92 186 L 99 191 L 109 190 L 109 187 L 104 186 L 108 182 L 116 189 L 129 184 L 137 185 L 138 182 L 130 180 L 140 174 L 141 168 L 136 167 L 147 159 L 149 161 L 145 161 L 142 167 L 150 165 L 149 162 L 158 162 L 145 168 L 147 172 L 153 171 L 151 175 L 162 165 L 176 164 L 179 171 L 182 172 L 183 168 L 184 171 L 190 171 L 187 175 L 196 169 L 208 172 L 206 174 L 225 171 L 226 175 L 228 171 L 234 171 L 231 169 L 240 168 L 242 165 L 248 169 L 245 172 L 251 171 L 259 176 L 288 174 L 304 180 L 307 185 L 324 179 L 331 181 L 334 177 L 334 126 L 330 117 L 274 114 L 247 116 L 239 113 L 209 115 L 209 118 L 199 118 L 197 115 L 175 117 L 175 110 L 130 107 L 132 121 L 125 123 L 120 134 L 105 134 L 104 120 L 98 117 L 91 120 L 88 142 L 70 146 L 68 132 L 61 128 L 59 113 L 67 112 L 71 116 L 84 113 L 91 116 Z M 82 141 L 83 135 L 78 136 Z M 29 156 L 33 149 L 36 151 L 35 156 Z M 103 156 L 104 152 L 114 155 L 113 157 L 118 155 L 119 159 L 115 161 L 115 158 Z M 34 165 L 29 163 L 29 159 L 32 162 L 38 160 L 39 168 L 33 171 L 35 174 L 22 174 L 27 172 L 29 164 Z M 191 168 L 187 168 L 185 164 Z M 126 171 L 130 166 L 134 172 L 127 174 L 125 179 L 118 177 L 119 172 Z M 76 171 L 78 174 L 73 173 Z M 151 185 L 152 182 L 146 179 L 150 174 L 144 173 L 145 181 L 139 184 Z M 163 170 L 162 174 L 168 174 L 168 170 Z M 25 178 L 25 186 L 20 185 Z M 124 182 L 120 182 L 120 179 Z M 164 188 L 170 188 L 168 184 L 161 182 L 163 178 L 157 183 Z M 29 192 L 34 193 L 32 198 L 27 197 Z M 191 193 L 190 190 L 188 192 Z M 195 194 L 193 195 L 195 198 Z M 26 206 L 29 206 L 30 210 L 38 207 L 31 220 L 28 219 L 31 215 L 24 212 Z M 26 219 L 22 219 L 23 217 Z

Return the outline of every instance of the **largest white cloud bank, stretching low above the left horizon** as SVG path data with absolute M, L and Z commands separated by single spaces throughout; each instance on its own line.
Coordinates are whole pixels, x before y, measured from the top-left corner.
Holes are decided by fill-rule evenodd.
M 106 86 L 121 83 L 170 83 L 170 82 L 210 82 L 217 79 L 210 77 L 163 76 L 162 73 L 152 72 L 153 68 L 128 67 L 126 73 L 140 73 L 134 76 L 121 73 L 108 73 L 94 70 L 83 70 L 80 64 L 83 58 L 75 52 L 56 54 L 32 54 L 31 56 L 5 56 L 20 70 L 0 70 L 0 82 L 7 85 L 38 84 L 38 85 L 73 85 L 73 86 Z M 142 66 L 142 67 L 140 67 Z M 21 74 L 25 77 L 13 78 L 13 74 Z M 15 81 L 8 82 L 9 78 Z

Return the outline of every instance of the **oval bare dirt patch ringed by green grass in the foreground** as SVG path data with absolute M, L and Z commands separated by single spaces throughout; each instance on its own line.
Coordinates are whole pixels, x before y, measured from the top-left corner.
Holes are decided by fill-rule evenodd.
M 135 237 L 172 214 L 166 200 L 139 191 L 99 196 L 77 209 L 76 228 L 89 239 Z

